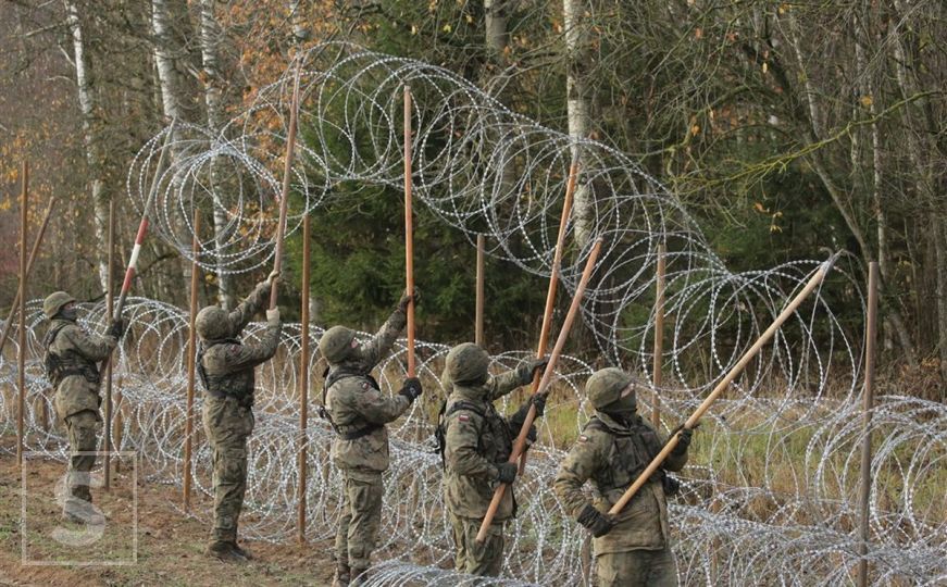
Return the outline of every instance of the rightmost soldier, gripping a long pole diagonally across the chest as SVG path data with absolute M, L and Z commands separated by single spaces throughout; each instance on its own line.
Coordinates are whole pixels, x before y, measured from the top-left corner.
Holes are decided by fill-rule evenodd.
M 665 444 L 637 411 L 640 384 L 620 369 L 597 371 L 585 384 L 596 412 L 585 425 L 553 482 L 565 511 L 594 536 L 599 586 L 677 585 L 677 563 L 671 550 L 665 494 L 677 491 L 665 471 L 681 471 L 687 462 L 691 429 L 677 432 L 677 446 L 616 516 L 607 512 L 658 455 Z M 591 479 L 595 503 L 582 486 Z

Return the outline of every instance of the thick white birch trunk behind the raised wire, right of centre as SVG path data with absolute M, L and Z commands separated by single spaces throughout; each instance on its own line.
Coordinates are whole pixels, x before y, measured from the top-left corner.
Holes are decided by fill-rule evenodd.
M 565 35 L 565 108 L 569 135 L 588 138 L 591 129 L 590 105 L 586 74 L 591 68 L 588 47 L 589 20 L 585 14 L 585 0 L 562 0 L 562 20 Z M 580 157 L 580 170 L 585 161 Z M 591 234 L 591 190 L 585 182 L 578 182 L 573 196 L 572 217 L 575 222 L 575 241 L 580 247 L 588 243 Z

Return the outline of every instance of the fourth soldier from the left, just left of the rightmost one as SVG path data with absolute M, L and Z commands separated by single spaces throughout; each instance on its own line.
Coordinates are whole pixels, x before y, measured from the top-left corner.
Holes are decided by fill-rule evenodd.
M 444 380 L 449 396 L 441 416 L 444 489 L 453 541 L 454 567 L 471 575 L 497 576 L 503 560 L 503 526 L 515 516 L 512 487 L 503 492 L 483 545 L 475 538 L 486 516 L 494 490 L 511 484 L 516 464 L 508 462 L 513 440 L 520 434 L 529 405 L 541 416 L 546 396 L 533 396 L 509 419 L 497 413 L 494 401 L 533 380 L 535 372 L 548 361 L 531 359 L 515 371 L 490 377 L 490 358 L 472 342 L 447 353 Z M 531 430 L 535 440 L 536 428 Z

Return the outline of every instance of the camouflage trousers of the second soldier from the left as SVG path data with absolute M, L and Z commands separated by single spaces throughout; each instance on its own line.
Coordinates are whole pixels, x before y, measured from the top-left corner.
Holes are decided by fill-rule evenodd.
M 233 398 L 204 396 L 204 432 L 214 466 L 214 540 L 235 541 L 247 491 L 247 438 L 253 411 Z

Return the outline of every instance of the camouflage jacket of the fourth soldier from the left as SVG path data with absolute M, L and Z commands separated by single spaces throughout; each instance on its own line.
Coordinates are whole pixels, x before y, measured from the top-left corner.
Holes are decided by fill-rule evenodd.
M 500 416 L 494 401 L 533 380 L 516 371 L 490 377 L 483 386 L 453 384 L 445 408 L 444 490 L 448 509 L 458 516 L 483 519 L 499 485 L 496 463 L 509 460 L 513 440 L 508 419 Z M 512 487 L 503 492 L 497 521 L 514 513 Z

